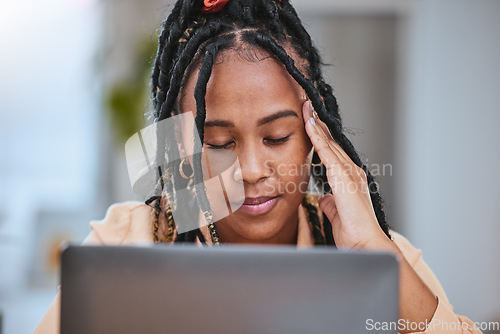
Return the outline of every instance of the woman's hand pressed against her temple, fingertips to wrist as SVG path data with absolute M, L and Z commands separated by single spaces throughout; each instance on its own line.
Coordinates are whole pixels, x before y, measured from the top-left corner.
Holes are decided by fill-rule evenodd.
M 397 246 L 378 224 L 364 170 L 335 142 L 326 124 L 313 117 L 310 101 L 304 103 L 302 112 L 306 132 L 326 167 L 332 189 L 332 194 L 320 198 L 319 206 L 332 223 L 337 247 L 395 250 Z

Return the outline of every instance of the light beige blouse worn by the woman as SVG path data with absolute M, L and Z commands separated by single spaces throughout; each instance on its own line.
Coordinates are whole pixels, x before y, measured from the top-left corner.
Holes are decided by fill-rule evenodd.
M 320 214 L 320 217 L 322 215 Z M 133 245 L 153 243 L 153 212 L 152 208 L 142 202 L 125 202 L 112 205 L 106 217 L 101 221 L 90 222 L 91 232 L 83 241 L 83 245 Z M 207 229 L 202 229 L 205 239 L 210 237 Z M 431 333 L 481 333 L 475 329 L 474 323 L 465 316 L 453 312 L 453 306 L 448 301 L 446 294 L 438 279 L 422 259 L 422 251 L 413 247 L 401 234 L 391 231 L 394 243 L 400 248 L 408 263 L 419 274 L 421 279 L 438 297 L 438 306 L 430 321 L 431 326 L 423 332 Z M 312 230 L 305 214 L 305 209 L 300 206 L 298 246 L 313 245 Z M 34 333 L 55 334 L 59 333 L 60 326 L 60 286 L 54 301 L 38 324 Z M 383 332 L 383 331 L 381 331 Z

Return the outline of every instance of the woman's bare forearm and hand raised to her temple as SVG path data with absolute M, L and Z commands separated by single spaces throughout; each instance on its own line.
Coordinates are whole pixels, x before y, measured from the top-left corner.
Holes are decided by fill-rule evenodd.
M 399 317 L 404 323 L 430 323 L 438 299 L 413 267 L 406 261 L 398 246 L 382 231 L 370 198 L 366 174 L 333 140 L 327 126 L 313 115 L 309 101 L 302 107 L 306 132 L 327 170 L 332 194 L 324 195 L 319 206 L 332 223 L 333 237 L 339 248 L 389 251 L 400 259 Z M 419 328 L 422 331 L 425 328 Z M 414 332 L 402 328 L 401 333 Z

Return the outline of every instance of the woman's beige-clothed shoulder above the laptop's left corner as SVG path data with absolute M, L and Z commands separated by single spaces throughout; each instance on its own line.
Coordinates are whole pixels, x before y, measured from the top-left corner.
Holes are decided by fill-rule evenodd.
M 92 239 L 99 244 L 120 245 L 150 241 L 153 210 L 143 202 L 129 201 L 111 205 L 102 220 L 90 222 Z

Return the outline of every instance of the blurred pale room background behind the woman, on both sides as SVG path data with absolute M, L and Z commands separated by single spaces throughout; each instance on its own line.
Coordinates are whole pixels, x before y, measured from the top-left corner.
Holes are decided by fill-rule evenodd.
M 295 0 L 389 222 L 455 311 L 500 321 L 500 1 Z M 3 1 L 0 332 L 30 333 L 62 242 L 131 191 L 169 0 Z

